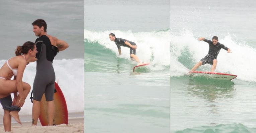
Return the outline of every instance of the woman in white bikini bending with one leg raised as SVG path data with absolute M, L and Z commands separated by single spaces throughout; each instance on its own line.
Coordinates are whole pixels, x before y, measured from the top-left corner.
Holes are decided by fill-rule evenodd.
M 3 124 L 6 132 L 11 131 L 11 117 L 22 124 L 18 112 L 30 91 L 30 85 L 22 82 L 22 77 L 26 65 L 36 53 L 35 44 L 25 42 L 22 46 L 17 46 L 16 56 L 8 59 L 0 69 L 0 102 L 4 110 Z M 14 76 L 13 80 L 11 80 L 12 76 Z M 13 101 L 11 93 L 14 95 Z

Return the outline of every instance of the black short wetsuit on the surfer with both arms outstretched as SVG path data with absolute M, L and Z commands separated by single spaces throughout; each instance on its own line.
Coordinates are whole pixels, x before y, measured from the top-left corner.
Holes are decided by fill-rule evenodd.
M 204 65 L 206 63 L 212 65 L 213 60 L 217 59 L 217 56 L 222 48 L 225 50 L 229 49 L 225 45 L 223 45 L 219 42 L 216 45 L 214 45 L 211 40 L 204 39 L 204 41 L 209 44 L 209 51 L 208 51 L 208 54 L 200 60 L 203 63 L 202 65 Z

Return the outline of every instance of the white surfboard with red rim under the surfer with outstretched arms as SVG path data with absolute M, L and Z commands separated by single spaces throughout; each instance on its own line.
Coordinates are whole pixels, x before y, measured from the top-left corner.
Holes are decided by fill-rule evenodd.
M 195 76 L 202 76 L 210 79 L 218 79 L 218 80 L 232 80 L 237 77 L 237 75 L 233 75 L 233 74 L 216 73 L 216 72 L 194 71 L 194 72 L 190 72 L 190 74 Z

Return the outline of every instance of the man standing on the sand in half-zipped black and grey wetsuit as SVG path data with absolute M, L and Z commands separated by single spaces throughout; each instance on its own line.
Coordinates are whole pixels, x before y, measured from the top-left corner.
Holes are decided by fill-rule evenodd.
M 33 107 L 32 107 L 32 125 L 37 125 L 40 114 L 40 101 L 45 93 L 48 105 L 49 125 L 53 125 L 55 105 L 53 101 L 55 88 L 55 72 L 53 69 L 53 59 L 59 51 L 69 47 L 68 43 L 59 40 L 56 37 L 47 34 L 47 24 L 42 19 L 37 19 L 33 23 L 33 32 L 38 38 L 35 40 L 37 54 L 36 74 L 33 84 Z

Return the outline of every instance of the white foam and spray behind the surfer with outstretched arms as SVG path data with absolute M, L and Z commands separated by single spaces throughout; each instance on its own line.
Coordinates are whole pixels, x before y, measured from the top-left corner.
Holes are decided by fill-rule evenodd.
M 208 38 L 211 40 L 211 38 Z M 256 82 L 256 49 L 246 42 L 238 42 L 231 36 L 219 38 L 219 42 L 231 49 L 232 53 L 227 53 L 222 49 L 218 55 L 216 71 L 221 73 L 232 73 L 238 75 L 237 79 Z M 198 38 L 189 30 L 181 31 L 179 34 L 171 33 L 171 77 L 182 76 L 188 69 L 182 62 L 178 61 L 181 51 L 186 47 L 192 55 L 194 63 L 198 62 L 208 53 L 208 44 L 198 41 Z M 183 62 L 184 63 L 184 62 Z M 210 65 L 206 64 L 210 70 Z

